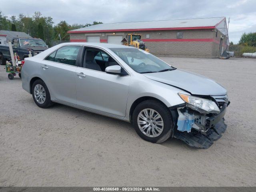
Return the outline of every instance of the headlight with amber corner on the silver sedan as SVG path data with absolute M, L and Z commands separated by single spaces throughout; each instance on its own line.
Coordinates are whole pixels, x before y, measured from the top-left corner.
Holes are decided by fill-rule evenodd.
M 179 93 L 179 96 L 188 104 L 188 107 L 193 110 L 197 110 L 201 113 L 220 113 L 220 109 L 216 103 L 211 100 L 181 93 Z

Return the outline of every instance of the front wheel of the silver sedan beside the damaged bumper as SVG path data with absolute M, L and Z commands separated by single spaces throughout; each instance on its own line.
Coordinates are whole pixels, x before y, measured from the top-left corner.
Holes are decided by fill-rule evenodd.
M 132 123 L 137 134 L 152 143 L 162 143 L 172 135 L 170 110 L 161 102 L 146 100 L 136 106 Z

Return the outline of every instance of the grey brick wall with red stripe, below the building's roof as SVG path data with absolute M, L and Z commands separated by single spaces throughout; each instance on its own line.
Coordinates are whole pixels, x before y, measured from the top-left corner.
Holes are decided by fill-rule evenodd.
M 177 32 L 183 32 L 183 38 L 177 39 Z M 178 56 L 178 57 L 199 57 L 199 58 L 216 58 L 219 54 L 220 36 L 223 34 L 212 29 L 207 30 L 162 30 L 162 31 L 127 31 L 115 32 L 115 35 L 122 35 L 123 38 L 127 33 L 142 34 L 142 40 L 145 41 L 146 47 L 152 54 L 161 56 Z M 146 38 L 149 34 L 150 38 Z M 107 42 L 108 33 L 74 33 L 70 34 L 70 40 L 86 40 L 87 36 L 100 36 L 101 42 Z M 226 37 L 225 37 L 226 38 Z M 164 41 L 158 41 L 164 40 Z M 169 40 L 166 42 L 166 40 Z M 178 40 L 178 41 L 176 41 Z M 180 41 L 181 40 L 181 41 Z M 189 40 L 189 41 L 188 41 Z M 224 39 L 223 42 L 226 42 Z

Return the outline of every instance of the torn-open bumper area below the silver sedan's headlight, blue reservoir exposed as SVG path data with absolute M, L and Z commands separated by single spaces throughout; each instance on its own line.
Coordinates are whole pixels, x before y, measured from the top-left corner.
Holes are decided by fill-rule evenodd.
M 219 106 L 219 114 L 201 114 L 189 106 L 178 108 L 177 129 L 173 137 L 195 148 L 209 148 L 227 128 L 224 115 L 229 103 Z

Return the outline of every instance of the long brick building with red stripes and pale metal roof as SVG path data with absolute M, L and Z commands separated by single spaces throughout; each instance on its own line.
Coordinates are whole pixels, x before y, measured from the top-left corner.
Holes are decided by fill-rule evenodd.
M 225 17 L 98 24 L 68 32 L 70 42 L 121 44 L 126 34 L 142 34 L 152 54 L 216 58 L 228 49 Z

